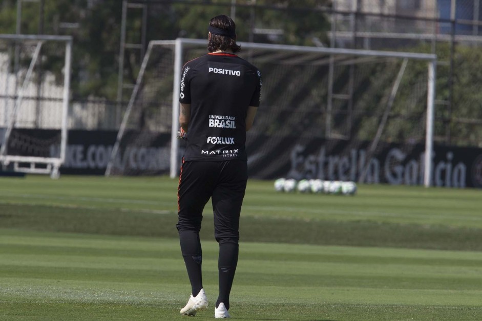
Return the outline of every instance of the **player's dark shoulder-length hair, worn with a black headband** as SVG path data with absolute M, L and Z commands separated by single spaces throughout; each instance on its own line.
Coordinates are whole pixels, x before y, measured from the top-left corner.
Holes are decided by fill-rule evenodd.
M 209 52 L 231 50 L 236 53 L 241 50 L 241 46 L 236 44 L 236 24 L 233 19 L 227 15 L 218 15 L 209 21 L 209 26 L 230 31 L 235 35 L 234 37 L 228 37 L 211 33 L 211 38 L 207 44 Z

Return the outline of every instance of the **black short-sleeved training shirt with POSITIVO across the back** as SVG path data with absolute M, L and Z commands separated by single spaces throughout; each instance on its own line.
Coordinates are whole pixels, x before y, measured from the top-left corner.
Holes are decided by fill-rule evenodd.
M 188 61 L 179 101 L 191 104 L 184 160 L 246 160 L 246 112 L 259 106 L 261 73 L 235 54 Z

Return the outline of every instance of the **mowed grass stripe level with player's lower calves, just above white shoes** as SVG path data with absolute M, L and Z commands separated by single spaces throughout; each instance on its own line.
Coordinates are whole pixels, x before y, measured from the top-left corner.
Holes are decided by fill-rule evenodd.
M 300 263 L 302 266 L 303 263 Z M 85 281 L 113 282 L 113 283 L 152 283 L 152 284 L 186 284 L 185 271 L 171 269 L 129 269 L 129 268 L 98 268 L 98 267 L 45 267 L 45 266 L 18 266 L 1 265 L 0 272 L 4 284 L 9 284 L 9 279 L 42 279 L 55 282 Z M 300 287 L 352 287 L 400 289 L 400 290 L 443 290 L 443 291 L 481 291 L 482 280 L 479 275 L 431 275 L 407 273 L 400 274 L 387 271 L 385 274 L 374 275 L 357 273 L 354 269 L 336 274 L 324 271 L 312 273 L 262 273 L 253 272 L 246 268 L 239 268 L 236 282 L 246 286 L 270 286 L 279 284 L 282 287 L 296 289 Z M 463 271 L 462 271 L 463 273 Z M 205 284 L 216 284 L 218 273 L 214 268 L 204 266 L 203 280 Z M 282 281 L 280 281 L 282 280 Z

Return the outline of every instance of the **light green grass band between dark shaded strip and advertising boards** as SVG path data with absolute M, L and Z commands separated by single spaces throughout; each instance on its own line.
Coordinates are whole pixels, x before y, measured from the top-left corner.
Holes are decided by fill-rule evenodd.
M 0 178 L 0 202 L 175 213 L 177 184 L 167 177 Z M 275 192 L 273 182 L 250 180 L 243 215 L 482 228 L 480 196 L 477 189 L 383 185 L 360 185 L 355 197 L 286 194 Z

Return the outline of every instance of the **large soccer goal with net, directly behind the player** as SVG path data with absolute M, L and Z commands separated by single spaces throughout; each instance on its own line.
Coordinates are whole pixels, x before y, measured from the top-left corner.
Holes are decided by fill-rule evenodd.
M 239 56 L 256 65 L 263 79 L 261 106 L 247 134 L 250 176 L 376 183 L 386 180 L 379 178 L 385 170 L 402 181 L 430 185 L 435 55 L 239 44 Z M 178 175 L 184 147 L 176 139 L 182 66 L 206 48 L 200 39 L 150 42 L 107 176 L 155 173 L 160 160 L 169 160 L 171 177 Z M 164 149 L 151 153 L 153 159 L 132 153 L 160 141 Z M 385 157 L 387 146 L 400 153 Z M 415 150 L 418 162 L 402 164 L 400 154 Z M 129 159 L 145 170 L 131 170 Z

